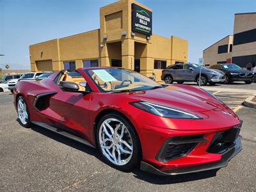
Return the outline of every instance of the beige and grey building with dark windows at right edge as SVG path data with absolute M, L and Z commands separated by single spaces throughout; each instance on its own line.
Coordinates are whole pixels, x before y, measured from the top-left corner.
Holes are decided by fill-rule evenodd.
M 246 67 L 256 63 L 256 12 L 235 14 L 234 33 L 203 52 L 204 64 L 236 63 Z

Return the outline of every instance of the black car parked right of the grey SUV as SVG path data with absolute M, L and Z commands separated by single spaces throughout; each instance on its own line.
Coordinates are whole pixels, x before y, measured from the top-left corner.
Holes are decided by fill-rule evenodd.
M 225 84 L 230 84 L 233 81 L 244 81 L 246 84 L 251 84 L 253 82 L 253 73 L 250 70 L 244 70 L 233 63 L 212 65 L 210 68 L 225 72 Z

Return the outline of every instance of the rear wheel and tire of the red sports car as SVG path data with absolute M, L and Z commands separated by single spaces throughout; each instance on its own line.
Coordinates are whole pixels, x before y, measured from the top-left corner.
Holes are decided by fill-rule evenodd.
M 31 127 L 28 104 L 24 99 L 24 97 L 22 96 L 20 96 L 17 100 L 17 111 L 18 111 L 19 124 L 26 128 Z

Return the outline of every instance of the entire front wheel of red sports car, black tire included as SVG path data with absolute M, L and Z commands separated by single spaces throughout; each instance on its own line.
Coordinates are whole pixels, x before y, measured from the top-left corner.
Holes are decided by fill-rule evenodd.
M 111 131 L 106 123 L 115 128 L 112 127 Z M 118 127 L 118 125 L 121 126 Z M 119 115 L 118 113 L 104 115 L 100 119 L 99 124 L 97 124 L 96 139 L 100 154 L 102 154 L 106 163 L 113 168 L 121 171 L 127 171 L 140 163 L 140 140 L 133 125 L 129 120 L 124 118 L 124 116 Z M 124 144 L 125 142 L 127 145 Z M 113 154 L 115 154 L 116 160 L 114 159 Z M 120 154 L 120 159 L 118 158 L 118 154 Z

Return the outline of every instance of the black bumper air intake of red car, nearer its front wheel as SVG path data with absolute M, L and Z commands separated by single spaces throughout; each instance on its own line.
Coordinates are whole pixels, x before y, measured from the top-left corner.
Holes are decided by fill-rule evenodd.
M 157 161 L 166 162 L 179 157 L 184 157 L 199 142 L 205 142 L 204 134 L 196 134 L 190 136 L 174 136 L 164 142 L 163 147 L 156 156 Z

